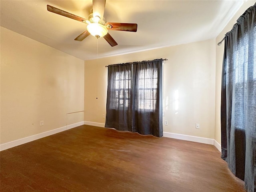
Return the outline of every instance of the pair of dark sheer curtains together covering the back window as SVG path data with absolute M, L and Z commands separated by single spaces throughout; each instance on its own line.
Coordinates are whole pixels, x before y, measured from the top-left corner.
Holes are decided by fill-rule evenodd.
M 163 136 L 162 59 L 108 66 L 105 127 Z

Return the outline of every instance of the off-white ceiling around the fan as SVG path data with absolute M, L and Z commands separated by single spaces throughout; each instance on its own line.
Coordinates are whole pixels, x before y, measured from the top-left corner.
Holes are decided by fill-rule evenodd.
M 137 23 L 137 32 L 109 31 L 98 39 L 98 58 L 215 38 L 243 0 L 106 0 L 107 22 Z M 48 12 L 46 5 L 88 18 L 92 0 L 0 0 L 0 24 L 82 60 L 97 58 L 97 39 L 75 41 L 86 24 Z

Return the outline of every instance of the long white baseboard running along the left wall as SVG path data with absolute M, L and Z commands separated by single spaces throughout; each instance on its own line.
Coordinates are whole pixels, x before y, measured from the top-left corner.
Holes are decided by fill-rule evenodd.
M 62 132 L 62 131 L 65 131 L 65 130 L 68 130 L 68 129 L 71 129 L 71 128 L 74 128 L 74 127 L 77 127 L 77 126 L 80 126 L 80 125 L 83 125 L 83 124 L 84 124 L 84 122 L 82 121 L 82 122 L 74 123 L 74 124 L 67 125 L 67 126 L 64 126 L 64 127 L 60 127 L 60 128 L 54 129 L 54 130 L 50 130 L 50 131 L 46 131 L 46 132 L 39 133 L 39 134 L 36 134 L 36 135 L 21 138 L 21 139 L 11 141 L 11 142 L 8 142 L 8 143 L 3 143 L 3 144 L 0 144 L 0 151 L 6 150 L 6 149 L 9 149 L 9 148 L 12 148 L 12 147 L 16 147 L 18 145 L 22 145 L 22 144 L 25 144 L 25 143 L 28 143 L 28 142 L 31 142 L 31 141 L 34 141 L 34 140 L 37 140 L 37 139 L 40 139 L 40 138 L 43 138 L 43 137 L 47 137 L 47 136 L 50 136 L 50 135 L 53 135 L 53 134 L 56 134 L 56 133 L 59 133 L 59 132 Z

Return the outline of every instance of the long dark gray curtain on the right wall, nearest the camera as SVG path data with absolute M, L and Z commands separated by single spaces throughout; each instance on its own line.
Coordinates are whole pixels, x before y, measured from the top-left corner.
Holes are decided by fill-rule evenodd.
M 256 4 L 226 34 L 221 94 L 222 158 L 256 192 Z

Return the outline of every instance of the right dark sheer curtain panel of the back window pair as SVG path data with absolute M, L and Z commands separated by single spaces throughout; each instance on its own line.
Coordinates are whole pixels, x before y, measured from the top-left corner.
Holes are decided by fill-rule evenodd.
M 133 131 L 162 137 L 162 59 L 135 63 L 132 79 Z

